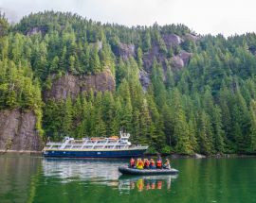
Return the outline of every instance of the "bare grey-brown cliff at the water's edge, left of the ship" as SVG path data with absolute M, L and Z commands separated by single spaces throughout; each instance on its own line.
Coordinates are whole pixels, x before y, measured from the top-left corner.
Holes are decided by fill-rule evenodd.
M 32 111 L 0 111 L 0 150 L 40 151 L 43 147 Z

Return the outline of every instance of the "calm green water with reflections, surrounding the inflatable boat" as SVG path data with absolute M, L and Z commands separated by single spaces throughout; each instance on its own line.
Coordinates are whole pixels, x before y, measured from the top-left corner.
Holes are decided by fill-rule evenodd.
M 125 161 L 0 155 L 0 202 L 256 202 L 256 159 L 179 159 L 177 177 L 122 177 Z

